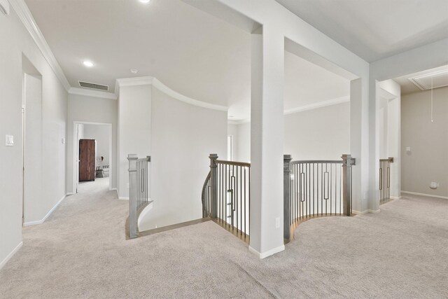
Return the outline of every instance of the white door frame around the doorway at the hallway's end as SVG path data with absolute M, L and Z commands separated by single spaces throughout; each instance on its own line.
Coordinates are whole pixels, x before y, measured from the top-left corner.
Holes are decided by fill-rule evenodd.
M 106 125 L 109 128 L 109 190 L 112 190 L 113 177 L 113 158 L 112 158 L 112 124 L 94 123 L 90 121 L 73 120 L 73 193 L 78 193 L 79 183 L 79 144 L 78 144 L 78 125 Z M 95 157 L 96 158 L 96 157 Z

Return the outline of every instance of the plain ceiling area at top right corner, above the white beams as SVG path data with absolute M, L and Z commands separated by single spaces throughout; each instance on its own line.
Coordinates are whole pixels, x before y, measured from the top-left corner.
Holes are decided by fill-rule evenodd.
M 276 0 L 367 62 L 448 38 L 447 0 Z

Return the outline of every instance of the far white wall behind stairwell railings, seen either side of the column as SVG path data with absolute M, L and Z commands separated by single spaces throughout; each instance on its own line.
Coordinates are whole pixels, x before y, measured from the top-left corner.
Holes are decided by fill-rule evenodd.
M 250 123 L 237 125 L 237 161 L 250 160 Z M 340 160 L 350 153 L 350 103 L 285 116 L 284 153 L 293 160 Z

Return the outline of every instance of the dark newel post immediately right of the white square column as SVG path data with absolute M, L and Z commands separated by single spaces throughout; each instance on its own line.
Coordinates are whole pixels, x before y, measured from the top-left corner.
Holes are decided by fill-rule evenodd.
M 283 239 L 291 240 L 291 155 L 283 155 Z

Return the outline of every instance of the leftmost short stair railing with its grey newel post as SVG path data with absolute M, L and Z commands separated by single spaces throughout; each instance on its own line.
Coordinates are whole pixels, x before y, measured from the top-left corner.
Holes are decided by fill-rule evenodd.
M 128 227 L 129 238 L 139 236 L 139 216 L 144 210 L 149 200 L 148 192 L 148 162 L 151 162 L 151 156 L 139 159 L 137 155 L 130 154 L 129 160 L 129 218 Z

